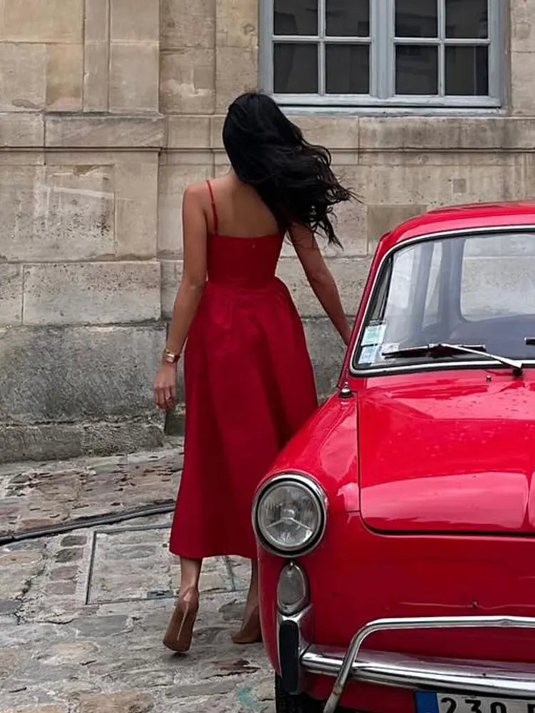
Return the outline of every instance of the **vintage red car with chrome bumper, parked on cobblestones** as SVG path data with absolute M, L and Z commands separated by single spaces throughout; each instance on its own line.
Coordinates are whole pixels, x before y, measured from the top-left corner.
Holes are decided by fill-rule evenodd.
M 277 713 L 535 713 L 535 203 L 379 240 L 255 498 Z

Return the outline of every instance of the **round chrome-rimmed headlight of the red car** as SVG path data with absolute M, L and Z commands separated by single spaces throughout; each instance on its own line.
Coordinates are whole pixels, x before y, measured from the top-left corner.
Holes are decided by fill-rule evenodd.
M 277 555 L 310 552 L 325 532 L 325 493 L 306 476 L 292 473 L 268 481 L 255 498 L 253 521 L 260 543 Z

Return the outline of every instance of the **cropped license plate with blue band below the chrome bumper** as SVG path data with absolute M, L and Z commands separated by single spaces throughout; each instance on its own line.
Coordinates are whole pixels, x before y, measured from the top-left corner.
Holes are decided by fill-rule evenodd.
M 416 713 L 535 713 L 535 701 L 417 693 Z

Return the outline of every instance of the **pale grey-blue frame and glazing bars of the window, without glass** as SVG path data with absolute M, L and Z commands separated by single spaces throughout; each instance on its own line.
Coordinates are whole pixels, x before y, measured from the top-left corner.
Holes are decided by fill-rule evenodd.
M 326 0 L 317 0 L 319 32 L 317 35 L 275 35 L 273 0 L 260 0 L 259 71 L 260 89 L 282 106 L 295 108 L 459 108 L 496 109 L 504 93 L 504 0 L 487 0 L 489 4 L 488 39 L 447 39 L 445 0 L 438 0 L 438 37 L 397 38 L 395 36 L 395 0 L 370 0 L 370 37 L 325 36 Z M 274 43 L 319 43 L 317 94 L 277 94 L 273 91 Z M 325 43 L 370 45 L 370 94 L 325 94 Z M 436 45 L 439 47 L 439 94 L 397 95 L 395 93 L 395 46 Z M 446 46 L 489 46 L 489 95 L 440 96 L 444 94 Z

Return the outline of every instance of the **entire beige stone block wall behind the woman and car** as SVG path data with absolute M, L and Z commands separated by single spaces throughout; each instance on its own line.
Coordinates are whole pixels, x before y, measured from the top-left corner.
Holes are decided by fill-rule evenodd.
M 362 197 L 340 210 L 345 252 L 327 252 L 348 314 L 392 225 L 534 195 L 529 0 L 509 25 L 502 113 L 296 117 Z M 257 46 L 257 0 L 0 0 L 0 460 L 161 442 L 151 382 L 180 276 L 180 196 L 225 169 L 225 107 L 255 87 Z M 340 341 L 288 248 L 280 275 L 327 394 Z

